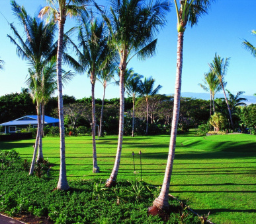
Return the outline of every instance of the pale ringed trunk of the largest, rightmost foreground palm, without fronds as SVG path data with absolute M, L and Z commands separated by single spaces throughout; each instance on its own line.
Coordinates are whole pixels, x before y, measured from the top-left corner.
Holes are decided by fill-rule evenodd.
M 168 194 L 171 181 L 171 173 L 173 171 L 173 160 L 175 155 L 175 145 L 177 136 L 177 126 L 179 121 L 179 109 L 181 100 L 181 74 L 183 67 L 183 32 L 178 33 L 178 46 L 177 46 L 177 70 L 175 81 L 175 95 L 173 101 L 173 120 L 171 123 L 171 140 L 169 145 L 169 154 L 167 159 L 167 165 L 165 169 L 165 177 L 163 179 L 163 185 L 161 192 L 153 201 L 153 206 L 148 209 L 148 212 L 155 215 L 158 210 L 167 210 L 169 208 Z

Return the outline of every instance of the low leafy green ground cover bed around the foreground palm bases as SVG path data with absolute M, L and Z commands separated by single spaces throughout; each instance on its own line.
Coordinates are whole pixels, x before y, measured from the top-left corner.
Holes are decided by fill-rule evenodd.
M 21 162 L 1 173 L 0 212 L 15 216 L 32 214 L 54 223 L 200 223 L 181 204 L 170 198 L 169 221 L 147 215 L 159 187 L 145 182 L 120 181 L 105 188 L 101 179 L 69 182 L 67 192 L 54 190 L 56 179 L 28 177 Z

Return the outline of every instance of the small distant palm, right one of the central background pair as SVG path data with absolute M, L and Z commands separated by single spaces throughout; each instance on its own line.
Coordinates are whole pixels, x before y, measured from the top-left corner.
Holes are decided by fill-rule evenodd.
M 162 86 L 158 85 L 157 88 L 153 89 L 153 85 L 155 84 L 155 80 L 152 77 L 149 78 L 144 78 L 144 82 L 140 80 L 140 94 L 144 96 L 146 99 L 146 104 L 147 104 L 147 126 L 146 126 L 146 135 L 148 134 L 148 98 L 149 96 L 154 96 L 159 92 L 159 90 L 162 88 Z

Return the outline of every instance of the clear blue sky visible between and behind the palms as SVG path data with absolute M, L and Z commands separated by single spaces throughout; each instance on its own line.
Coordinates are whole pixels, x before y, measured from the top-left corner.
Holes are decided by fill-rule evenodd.
M 46 5 L 43 0 L 17 0 L 24 5 L 30 15 L 35 15 L 40 7 Z M 99 3 L 99 1 L 98 1 Z M 173 0 L 170 1 L 173 3 Z M 101 1 L 106 5 L 105 1 Z M 204 72 L 208 72 L 208 63 L 218 53 L 221 57 L 230 57 L 230 67 L 226 74 L 226 88 L 236 94 L 244 91 L 251 96 L 256 93 L 256 59 L 241 47 L 243 38 L 256 45 L 256 36 L 251 30 L 256 30 L 256 1 L 255 0 L 219 0 L 214 3 L 207 15 L 200 18 L 198 25 L 193 28 L 187 26 L 183 49 L 183 78 L 181 92 L 204 92 L 198 83 L 202 82 Z M 22 27 L 13 16 L 9 1 L 0 1 L 0 12 L 22 34 Z M 12 34 L 7 21 L 0 14 L 0 58 L 5 61 L 5 70 L 0 71 L 0 96 L 11 92 L 20 92 L 24 84 L 28 65 L 16 55 L 16 47 L 7 34 Z M 65 30 L 75 25 L 74 20 L 67 18 Z M 155 84 L 163 88 L 159 94 L 172 94 L 175 86 L 176 53 L 177 53 L 177 18 L 175 8 L 167 15 L 167 26 L 161 30 L 157 43 L 157 54 L 147 61 L 132 59 L 128 68 L 135 72 L 155 78 Z M 58 35 L 56 35 L 58 36 Z M 73 37 L 75 39 L 75 36 Z M 64 88 L 64 94 L 80 99 L 91 96 L 91 84 L 86 75 L 75 78 Z M 96 84 L 95 96 L 102 98 L 103 88 Z M 106 98 L 118 98 L 117 86 L 108 86 Z

